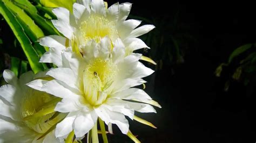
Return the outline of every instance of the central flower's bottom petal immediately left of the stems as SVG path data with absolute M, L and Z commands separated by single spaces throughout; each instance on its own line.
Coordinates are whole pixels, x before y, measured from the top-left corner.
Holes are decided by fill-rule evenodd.
M 76 137 L 83 137 L 83 135 L 89 132 L 97 124 L 97 117 L 95 111 L 80 112 L 74 123 Z

